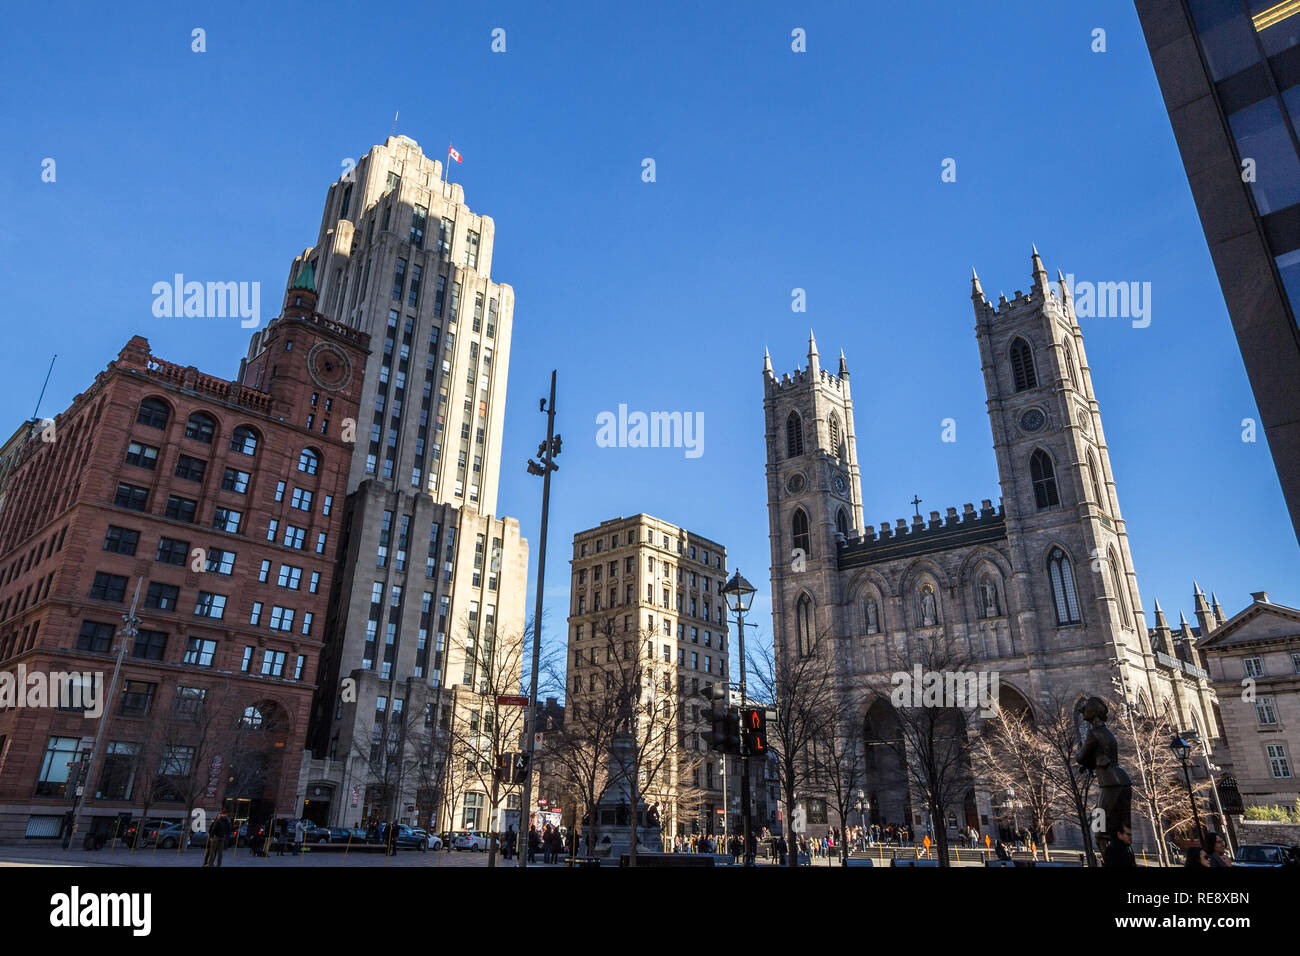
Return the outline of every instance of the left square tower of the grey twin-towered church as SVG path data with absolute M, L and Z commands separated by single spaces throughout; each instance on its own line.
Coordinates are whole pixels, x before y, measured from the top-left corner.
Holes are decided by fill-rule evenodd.
M 811 333 L 807 360 L 777 378 L 763 358 L 772 620 L 783 654 L 806 653 L 832 627 L 842 600 L 838 545 L 862 528 L 849 367 L 841 351 L 837 375 L 822 368 Z

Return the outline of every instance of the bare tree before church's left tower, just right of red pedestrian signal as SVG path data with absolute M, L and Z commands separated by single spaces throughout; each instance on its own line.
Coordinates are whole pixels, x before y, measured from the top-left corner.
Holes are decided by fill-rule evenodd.
M 749 653 L 748 666 L 748 692 L 757 704 L 766 705 L 776 715 L 768 722 L 768 747 L 776 758 L 785 804 L 785 829 L 792 840 L 794 806 L 815 792 L 820 782 L 822 767 L 814 754 L 822 724 L 836 706 L 829 641 L 819 639 L 806 654 L 777 653 L 777 649 L 759 644 Z M 789 865 L 798 865 L 793 840 Z

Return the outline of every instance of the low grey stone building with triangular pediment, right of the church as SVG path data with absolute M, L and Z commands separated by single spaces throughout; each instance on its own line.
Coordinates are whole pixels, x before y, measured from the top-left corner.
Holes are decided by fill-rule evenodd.
M 1253 602 L 1197 641 L 1218 692 L 1226 749 L 1216 750 L 1223 809 L 1300 799 L 1295 760 L 1300 752 L 1300 610 Z M 1216 607 L 1218 602 L 1214 602 Z M 1235 793 L 1234 793 L 1235 791 Z

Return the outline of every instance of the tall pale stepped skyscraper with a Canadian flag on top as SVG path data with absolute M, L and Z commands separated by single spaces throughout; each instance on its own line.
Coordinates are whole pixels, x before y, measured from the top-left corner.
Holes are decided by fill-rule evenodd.
M 491 825 L 480 774 L 443 756 L 524 633 L 528 544 L 497 515 L 514 290 L 491 278 L 493 220 L 443 174 L 408 137 L 373 147 L 289 277 L 311 269 L 320 310 L 370 333 L 367 365 L 343 369 L 364 377 L 361 414 L 300 782 L 332 825 Z

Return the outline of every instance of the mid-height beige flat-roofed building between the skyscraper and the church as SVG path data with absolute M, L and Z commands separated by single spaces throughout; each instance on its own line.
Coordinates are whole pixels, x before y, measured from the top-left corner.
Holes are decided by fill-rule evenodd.
M 731 680 L 727 549 L 651 515 L 615 518 L 573 536 L 568 657 L 569 713 L 603 679 L 610 637 L 624 654 L 642 654 L 676 674 L 681 705 L 680 756 L 651 787 L 664 836 L 720 832 L 723 765 L 701 736 L 701 688 Z M 607 631 L 612 631 L 607 633 Z M 738 795 L 738 760 L 731 761 L 729 796 Z M 731 800 L 728 800 L 731 801 Z M 738 800 L 734 801 L 738 808 Z

